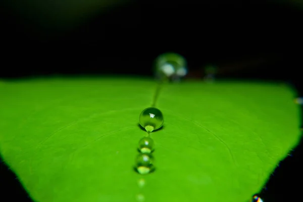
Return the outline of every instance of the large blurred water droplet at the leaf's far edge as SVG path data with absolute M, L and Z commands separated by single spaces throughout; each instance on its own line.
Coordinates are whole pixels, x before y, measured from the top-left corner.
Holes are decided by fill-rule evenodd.
M 184 57 L 176 53 L 165 53 L 155 61 L 157 79 L 179 81 L 187 74 L 187 63 Z

